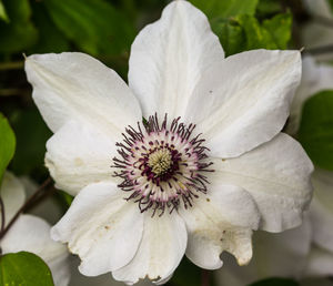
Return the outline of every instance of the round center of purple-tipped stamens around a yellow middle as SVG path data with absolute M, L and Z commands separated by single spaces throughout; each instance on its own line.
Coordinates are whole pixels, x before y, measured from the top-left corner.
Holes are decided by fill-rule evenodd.
M 120 170 L 114 172 L 122 180 L 118 186 L 130 193 L 125 200 L 138 203 L 141 212 L 152 208 L 152 216 L 167 208 L 171 213 L 180 204 L 192 206 L 198 192 L 206 193 L 203 173 L 213 172 L 204 140 L 192 136 L 195 125 L 180 123 L 180 118 L 168 126 L 167 114 L 161 124 L 155 114 L 143 126 L 129 126 L 117 143 L 121 159 L 114 157 L 112 167 Z

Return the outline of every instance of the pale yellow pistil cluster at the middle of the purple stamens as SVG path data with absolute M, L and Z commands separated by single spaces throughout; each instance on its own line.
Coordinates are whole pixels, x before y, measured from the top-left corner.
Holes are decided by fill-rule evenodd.
M 151 171 L 160 176 L 168 172 L 172 164 L 172 156 L 168 149 L 160 149 L 150 154 L 148 160 L 148 165 L 151 167 Z

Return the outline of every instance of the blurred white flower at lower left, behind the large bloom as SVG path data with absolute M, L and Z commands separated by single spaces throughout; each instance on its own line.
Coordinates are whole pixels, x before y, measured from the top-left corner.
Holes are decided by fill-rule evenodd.
M 8 224 L 26 201 L 22 183 L 7 172 L 1 185 L 4 218 Z M 50 237 L 51 226 L 34 215 L 22 214 L 1 239 L 3 254 L 31 252 L 40 256 L 50 267 L 56 286 L 67 286 L 70 280 L 67 248 Z

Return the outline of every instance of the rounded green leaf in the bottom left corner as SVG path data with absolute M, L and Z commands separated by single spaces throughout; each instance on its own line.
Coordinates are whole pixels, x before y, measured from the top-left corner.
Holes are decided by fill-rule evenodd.
M 48 265 L 37 255 L 27 252 L 10 253 L 0 257 L 0 285 L 53 286 Z

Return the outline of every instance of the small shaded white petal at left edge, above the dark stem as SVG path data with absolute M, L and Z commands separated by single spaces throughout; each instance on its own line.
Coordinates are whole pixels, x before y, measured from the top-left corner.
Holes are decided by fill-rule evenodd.
M 26 201 L 24 187 L 12 173 L 6 172 L 0 195 L 4 205 L 4 221 L 7 225 Z

